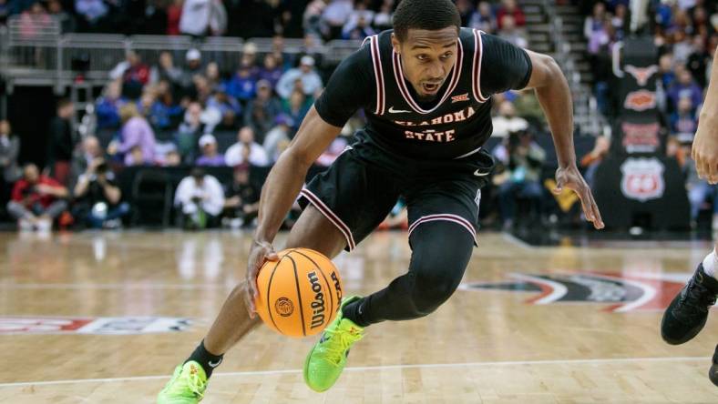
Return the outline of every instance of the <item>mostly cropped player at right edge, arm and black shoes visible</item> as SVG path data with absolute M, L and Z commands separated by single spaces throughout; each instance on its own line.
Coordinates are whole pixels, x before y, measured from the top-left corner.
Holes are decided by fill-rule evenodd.
M 701 109 L 698 130 L 693 138 L 691 155 L 698 177 L 711 184 L 718 184 L 718 49 L 713 56 L 711 82 Z M 708 309 L 715 304 L 715 298 L 718 297 L 716 250 L 718 241 L 713 252 L 698 264 L 691 280 L 663 313 L 661 335 L 669 344 L 688 342 L 703 329 L 708 319 Z M 718 346 L 713 353 L 713 366 L 708 376 L 713 384 L 718 386 Z

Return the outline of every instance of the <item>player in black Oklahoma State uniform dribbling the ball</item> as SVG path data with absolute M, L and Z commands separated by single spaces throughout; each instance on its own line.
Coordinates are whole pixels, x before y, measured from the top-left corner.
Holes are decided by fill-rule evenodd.
M 344 299 L 304 363 L 311 389 L 333 386 L 367 326 L 422 318 L 441 306 L 476 243 L 480 188 L 494 165 L 481 147 L 491 136 L 493 94 L 536 89 L 559 159 L 556 191 L 575 191 L 586 218 L 603 227 L 576 167 L 571 97 L 559 66 L 460 24 L 450 0 L 404 0 L 394 30 L 367 38 L 337 67 L 264 185 L 246 284 L 231 292 L 209 334 L 175 369 L 160 403 L 197 402 L 222 355 L 257 324 L 257 272 L 265 260 L 278 259 L 272 240 L 300 193 L 305 208 L 287 247 L 313 248 L 329 258 L 351 251 L 399 196 L 407 203 L 412 247 L 407 273 L 372 295 Z M 367 126 L 303 187 L 308 168 L 359 108 Z

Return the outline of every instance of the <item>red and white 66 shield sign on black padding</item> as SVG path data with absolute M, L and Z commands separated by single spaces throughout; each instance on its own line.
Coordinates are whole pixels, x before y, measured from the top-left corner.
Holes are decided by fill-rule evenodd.
M 645 202 L 663 196 L 665 167 L 658 158 L 628 158 L 621 165 L 621 191 L 629 199 Z

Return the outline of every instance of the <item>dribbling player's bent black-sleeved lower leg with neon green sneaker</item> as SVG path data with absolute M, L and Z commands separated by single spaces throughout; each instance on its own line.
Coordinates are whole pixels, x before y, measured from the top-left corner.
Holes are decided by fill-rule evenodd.
M 304 363 L 304 380 L 316 391 L 333 386 L 364 328 L 384 320 L 421 318 L 449 298 L 467 268 L 474 237 L 454 222 L 421 224 L 409 238 L 412 258 L 405 275 L 366 298 L 346 298 L 336 318 Z

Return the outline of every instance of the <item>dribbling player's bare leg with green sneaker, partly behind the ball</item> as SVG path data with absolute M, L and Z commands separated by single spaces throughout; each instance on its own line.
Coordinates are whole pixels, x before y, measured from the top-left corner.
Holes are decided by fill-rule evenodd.
M 292 227 L 287 247 L 306 247 L 335 257 L 346 246 L 344 235 L 314 207 L 307 207 Z M 207 336 L 184 363 L 175 368 L 172 379 L 159 392 L 159 404 L 197 403 L 207 380 L 220 365 L 224 353 L 256 327 L 259 318 L 250 318 L 244 300 L 246 283 L 232 289 Z

